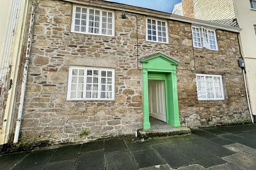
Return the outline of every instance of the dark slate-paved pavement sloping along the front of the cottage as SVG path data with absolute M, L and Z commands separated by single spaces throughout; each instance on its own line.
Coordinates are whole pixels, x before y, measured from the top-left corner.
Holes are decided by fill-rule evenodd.
M 141 142 L 131 137 L 0 156 L 0 169 L 256 169 L 256 125 L 193 130 Z

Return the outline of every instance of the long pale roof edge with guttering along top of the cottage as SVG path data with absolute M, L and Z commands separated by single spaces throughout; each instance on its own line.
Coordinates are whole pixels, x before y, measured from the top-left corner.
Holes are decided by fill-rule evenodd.
M 139 6 L 131 6 L 131 5 L 115 3 L 115 2 L 109 2 L 109 1 L 103 1 L 103 2 L 108 3 L 108 4 L 116 4 L 116 5 L 118 5 L 118 7 L 107 5 L 107 4 L 102 4 L 102 3 L 98 4 L 98 3 L 82 2 L 82 1 L 77 1 L 77 0 L 61 0 L 61 1 L 66 1 L 66 2 L 70 2 L 70 3 L 74 3 L 74 4 L 81 4 L 81 5 L 90 5 L 90 6 L 94 6 L 94 7 L 100 7 L 100 8 L 107 8 L 109 10 L 126 11 L 126 12 L 131 12 L 131 13 L 136 13 L 136 14 L 147 15 L 147 16 L 151 16 L 151 17 L 155 17 L 155 18 L 161 18 L 161 19 L 167 19 L 167 20 L 169 19 L 169 20 L 187 22 L 187 23 L 191 23 L 191 24 L 198 24 L 198 25 L 202 25 L 205 27 L 211 27 L 214 29 L 231 31 L 231 32 L 240 32 L 242 30 L 242 28 L 238 28 L 238 27 L 232 27 L 229 25 L 223 25 L 223 24 L 214 23 L 214 22 L 210 22 L 210 21 L 188 18 L 186 16 L 180 16 L 180 15 L 156 11 L 156 10 L 153 10 L 154 13 L 150 13 L 150 9 L 147 9 L 147 8 L 143 8 L 143 7 L 139 7 Z M 141 8 L 141 10 L 132 10 L 132 9 L 128 8 L 129 6 Z M 157 14 L 157 13 L 159 13 L 159 14 Z

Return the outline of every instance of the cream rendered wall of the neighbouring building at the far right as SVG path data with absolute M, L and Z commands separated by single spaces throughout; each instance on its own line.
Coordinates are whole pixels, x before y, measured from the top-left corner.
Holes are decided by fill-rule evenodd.
M 251 10 L 249 0 L 234 0 L 235 12 L 240 33 L 242 54 L 249 86 L 252 112 L 256 115 L 256 35 L 253 25 L 256 24 L 256 10 Z

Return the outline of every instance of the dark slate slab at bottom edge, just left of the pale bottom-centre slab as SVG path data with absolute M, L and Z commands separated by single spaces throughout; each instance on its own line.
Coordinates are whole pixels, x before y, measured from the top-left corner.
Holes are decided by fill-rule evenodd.
M 138 167 L 130 152 L 126 150 L 106 154 L 106 169 L 135 170 L 138 169 Z

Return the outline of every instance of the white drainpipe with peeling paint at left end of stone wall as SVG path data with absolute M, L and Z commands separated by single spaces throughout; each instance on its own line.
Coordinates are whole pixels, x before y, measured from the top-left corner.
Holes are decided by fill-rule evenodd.
M 29 23 L 28 42 L 27 42 L 27 49 L 26 49 L 26 60 L 25 60 L 25 65 L 24 65 L 24 70 L 23 70 L 23 78 L 22 78 L 22 84 L 21 84 L 21 93 L 20 93 L 20 102 L 19 102 L 20 105 L 19 105 L 19 110 L 18 110 L 18 117 L 17 117 L 17 122 L 16 122 L 13 143 L 17 143 L 19 140 L 20 124 L 21 124 L 21 118 L 22 118 L 23 103 L 24 103 L 27 74 L 28 74 L 29 54 L 30 54 L 31 41 L 32 41 L 32 36 L 33 36 L 35 8 L 36 8 L 36 5 L 35 5 L 35 2 L 33 1 L 32 7 L 31 7 L 30 23 Z

